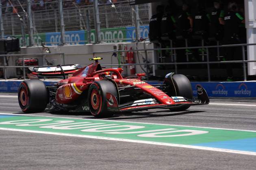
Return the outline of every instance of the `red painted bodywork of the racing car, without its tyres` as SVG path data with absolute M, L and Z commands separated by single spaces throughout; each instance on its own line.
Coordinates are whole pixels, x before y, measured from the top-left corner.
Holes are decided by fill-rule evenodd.
M 141 104 L 137 106 L 127 106 L 123 108 L 118 108 L 118 101 L 115 98 L 113 101 L 114 106 L 117 107 L 119 111 L 128 111 L 128 110 L 143 110 L 147 108 L 171 108 L 175 106 L 179 106 L 182 104 L 189 105 L 197 105 L 198 103 L 182 101 L 175 102 L 171 96 L 165 94 L 165 92 L 160 89 L 146 83 L 145 81 L 141 81 L 141 77 L 145 74 L 137 74 L 138 79 L 127 79 L 121 76 L 123 69 L 121 68 L 109 68 L 102 70 L 100 63 L 95 62 L 90 64 L 89 66 L 80 68 L 79 70 L 67 70 L 65 73 L 69 73 L 68 79 L 63 79 L 56 83 L 58 87 L 56 90 L 55 100 L 59 104 L 74 104 L 76 103 L 79 96 L 87 91 L 90 85 L 94 81 L 101 81 L 106 79 L 106 77 L 111 78 L 116 84 L 118 88 L 121 87 L 135 87 L 144 91 L 145 94 L 151 95 L 151 98 L 154 98 L 157 102 L 152 104 Z M 70 75 L 72 73 L 72 75 Z M 32 72 L 32 74 L 40 74 L 39 72 Z M 48 72 L 43 73 L 45 75 L 48 74 L 61 74 L 61 72 Z M 41 74 L 41 75 L 43 75 Z M 111 94 L 107 94 L 107 98 L 110 98 Z M 140 99 L 138 99 L 140 100 Z M 112 105 L 113 107 L 113 105 Z

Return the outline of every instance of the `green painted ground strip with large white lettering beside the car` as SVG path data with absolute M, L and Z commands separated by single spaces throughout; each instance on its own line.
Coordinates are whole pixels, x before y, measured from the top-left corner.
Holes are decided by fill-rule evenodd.
M 32 119 L 50 119 L 50 121 L 40 122 L 40 123 L 28 123 L 28 121 L 20 121 L 20 120 L 32 120 Z M 6 124 L 6 121 L 19 121 L 13 122 L 14 124 Z M 87 125 L 89 123 L 85 123 L 80 126 L 79 129 L 70 129 L 70 130 L 60 130 L 53 129 L 51 127 L 46 127 L 49 123 L 59 123 L 56 121 L 72 121 L 71 123 L 103 123 L 99 125 L 106 125 L 106 127 L 111 126 L 110 124 L 115 124 L 113 126 L 119 125 L 132 125 L 137 127 L 142 127 L 136 130 L 123 130 L 128 127 L 112 127 L 112 128 L 104 128 L 98 130 L 112 130 L 112 132 L 136 132 L 135 134 L 107 134 L 106 132 L 83 132 L 81 130 L 89 130 L 91 128 L 96 127 L 88 127 L 92 125 Z M 20 126 L 22 123 L 28 125 Z M 62 123 L 65 125 L 59 125 L 56 127 L 63 127 L 71 125 L 70 123 Z M 76 124 L 78 125 L 78 124 Z M 129 140 L 143 140 L 143 141 L 151 141 L 151 142 L 164 142 L 171 144 L 198 144 L 198 143 L 206 143 L 206 142 L 217 142 L 217 141 L 227 141 L 227 140 L 237 140 L 237 139 L 246 139 L 246 138 L 256 138 L 256 132 L 245 132 L 245 131 L 236 131 L 236 130 L 218 130 L 218 129 L 210 129 L 210 128 L 197 128 L 197 127 L 184 127 L 184 126 L 172 126 L 172 125 L 155 125 L 155 124 L 144 124 L 144 123 L 127 123 L 120 121 L 103 121 L 97 119 L 67 119 L 67 118 L 56 118 L 56 117 L 34 117 L 34 116 L 14 116 L 14 117 L 2 117 L 0 118 L 0 127 L 11 128 L 11 129 L 19 129 L 19 130 L 34 130 L 34 131 L 43 131 L 43 132 L 57 132 L 64 134 L 78 134 L 78 135 L 89 135 L 89 136 L 101 136 L 101 137 L 110 137 L 110 138 L 120 138 L 120 139 L 129 139 Z M 104 127 L 104 126 L 103 126 Z M 73 127 L 74 128 L 74 127 Z M 76 126 L 78 128 L 78 126 Z M 204 132 L 204 134 L 195 134 L 189 136 L 169 136 L 169 137 L 141 137 L 138 135 L 142 134 L 150 134 L 153 132 L 143 132 L 137 133 L 138 131 L 148 131 L 148 130 L 159 130 L 159 132 L 165 132 L 163 129 L 174 128 L 175 130 L 168 130 L 168 134 L 156 134 L 156 136 L 161 135 L 180 135 L 180 134 L 191 134 L 191 132 L 176 132 L 171 133 L 171 131 L 177 130 L 194 130 L 194 132 Z

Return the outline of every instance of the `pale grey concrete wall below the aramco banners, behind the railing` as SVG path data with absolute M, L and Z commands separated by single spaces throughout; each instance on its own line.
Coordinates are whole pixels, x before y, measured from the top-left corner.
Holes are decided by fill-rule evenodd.
M 64 53 L 65 54 L 65 64 L 80 64 L 82 66 L 86 66 L 88 64 L 91 64 L 92 62 L 89 61 L 89 58 L 93 57 L 93 52 L 96 51 L 113 51 L 114 46 L 117 46 L 117 48 L 120 46 L 122 50 L 124 50 L 125 47 L 127 49 L 152 49 L 153 44 L 150 44 L 149 42 L 139 42 L 139 43 L 102 43 L 102 44 L 86 44 L 86 45 L 63 45 L 63 46 L 47 46 L 50 50 L 50 53 Z M 37 53 L 43 53 L 43 48 L 41 46 L 39 47 L 22 47 L 21 54 L 37 54 Z M 148 51 L 148 62 L 154 62 L 154 55 L 152 51 Z M 117 57 L 111 57 L 113 53 L 102 53 L 102 54 L 96 54 L 95 57 L 103 57 L 103 60 L 100 60 L 101 64 L 111 64 L 111 58 L 113 61 L 113 64 L 118 64 Z M 121 61 L 125 61 L 125 56 L 127 53 L 121 53 Z M 145 51 L 140 51 L 138 53 L 139 59 L 137 57 L 137 53 L 134 53 L 134 59 L 135 63 L 143 63 L 143 58 L 145 58 Z M 15 66 L 15 60 L 19 57 L 10 57 L 9 59 L 9 66 Z M 22 58 L 22 57 L 20 57 Z M 38 58 L 39 59 L 39 65 L 43 65 L 43 57 L 42 56 L 25 56 L 25 58 Z M 57 64 L 63 64 L 63 59 L 60 55 L 50 55 L 46 56 L 46 59 L 48 62 L 52 63 L 52 65 Z M 44 62 L 46 63 L 46 62 Z M 113 68 L 117 68 L 118 66 L 113 66 Z M 154 68 L 154 66 L 151 66 Z M 107 66 L 107 68 L 110 68 L 110 66 Z M 130 70 L 128 66 L 121 66 L 121 68 L 124 69 L 124 74 L 130 74 Z M 145 70 L 145 68 L 143 67 Z M 152 69 L 154 70 L 154 69 Z M 140 66 L 136 66 L 136 72 L 141 73 L 143 70 Z M 8 77 L 17 77 L 16 69 L 15 68 L 8 68 Z

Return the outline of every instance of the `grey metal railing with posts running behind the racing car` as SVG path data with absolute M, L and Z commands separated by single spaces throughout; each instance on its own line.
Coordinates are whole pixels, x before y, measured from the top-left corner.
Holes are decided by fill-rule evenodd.
M 247 74 L 246 74 L 246 64 L 251 63 L 251 62 L 256 62 L 256 60 L 246 60 L 245 59 L 245 47 L 248 46 L 255 46 L 256 44 L 237 44 L 237 45 L 218 45 L 218 46 L 204 46 L 204 47 L 189 47 L 190 49 L 206 49 L 206 62 L 176 62 L 176 53 L 174 52 L 172 57 L 174 57 L 174 62 L 164 62 L 164 63 L 148 63 L 145 62 L 143 64 L 113 64 L 112 60 L 111 63 L 109 64 L 102 64 L 102 66 L 136 66 L 136 65 L 144 65 L 146 68 L 146 75 L 147 77 L 149 77 L 149 69 L 148 66 L 149 65 L 174 65 L 175 66 L 175 73 L 178 74 L 179 70 L 177 68 L 178 65 L 187 65 L 187 64 L 205 64 L 207 66 L 207 76 L 208 76 L 208 81 L 211 81 L 211 74 L 210 74 L 210 65 L 211 64 L 233 64 L 233 63 L 241 63 L 243 64 L 243 80 L 247 81 Z M 209 61 L 209 53 L 208 50 L 210 48 L 228 48 L 228 47 L 241 47 L 242 48 L 242 60 L 237 60 L 237 61 L 218 61 L 218 62 L 210 62 Z M 139 51 L 162 51 L 162 50 L 182 50 L 182 49 L 187 49 L 187 47 L 177 47 L 177 48 L 161 48 L 161 49 L 134 49 L 134 50 L 117 50 L 117 51 L 100 51 L 100 52 L 93 52 L 92 55 L 93 57 L 95 57 L 96 54 L 104 54 L 104 53 L 121 53 L 121 52 L 129 52 L 129 51 L 133 51 L 133 52 L 139 52 Z M 20 54 L 20 55 L 0 55 L 0 57 L 15 57 L 15 56 L 22 56 L 23 57 L 23 66 L 6 66 L 6 62 L 5 62 L 5 66 L 0 66 L 0 68 L 4 68 L 4 78 L 7 79 L 7 68 L 23 68 L 23 70 L 25 70 L 25 68 L 31 67 L 31 66 L 24 66 L 24 56 L 26 55 L 33 55 L 33 56 L 42 56 L 43 57 L 43 61 L 45 59 L 45 57 L 49 56 L 49 55 L 59 55 L 62 57 L 63 60 L 63 64 L 65 64 L 65 56 L 63 53 L 43 53 L 43 54 Z M 148 61 L 147 55 L 145 55 L 146 57 L 146 61 Z M 45 66 L 44 62 L 43 62 L 43 66 Z M 26 79 L 25 77 L 25 72 L 23 72 L 24 74 L 24 79 Z

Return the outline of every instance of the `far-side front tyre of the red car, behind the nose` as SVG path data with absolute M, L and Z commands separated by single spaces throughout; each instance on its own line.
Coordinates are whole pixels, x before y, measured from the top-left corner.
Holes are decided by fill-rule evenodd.
M 168 82 L 164 82 L 164 84 L 169 85 L 169 90 L 167 89 L 167 91 L 169 92 L 168 94 L 170 94 L 171 96 L 180 96 L 180 97 L 184 97 L 187 98 L 189 100 L 193 100 L 193 91 L 192 91 L 192 87 L 191 87 L 191 83 L 189 81 L 189 79 L 182 75 L 182 74 L 174 74 L 172 75 L 172 77 L 167 77 L 167 79 L 172 79 L 173 85 L 171 85 L 170 83 L 168 84 Z M 175 94 L 176 91 L 176 94 Z M 174 108 L 174 109 L 170 109 L 172 111 L 184 111 L 187 110 L 190 106 L 183 106 L 181 108 Z

